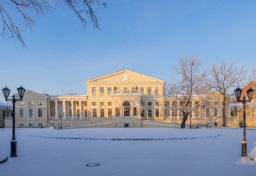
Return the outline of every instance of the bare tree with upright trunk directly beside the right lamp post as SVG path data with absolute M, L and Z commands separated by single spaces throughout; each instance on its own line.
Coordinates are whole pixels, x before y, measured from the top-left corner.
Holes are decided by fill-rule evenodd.
M 205 79 L 205 84 L 217 90 L 223 96 L 223 126 L 226 126 L 226 104 L 232 99 L 233 90 L 237 86 L 244 87 L 250 81 L 247 77 L 247 72 L 244 67 L 236 67 L 235 62 L 227 63 L 222 61 L 221 64 L 212 65 L 208 77 Z

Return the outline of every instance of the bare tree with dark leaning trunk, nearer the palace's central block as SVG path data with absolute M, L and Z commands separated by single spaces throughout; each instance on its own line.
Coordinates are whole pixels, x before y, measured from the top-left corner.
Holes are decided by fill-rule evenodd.
M 176 70 L 176 77 L 172 80 L 171 84 L 168 84 L 165 92 L 167 95 L 178 99 L 178 110 L 182 112 L 181 128 L 185 128 L 185 123 L 190 113 L 203 106 L 203 97 L 207 95 L 208 88 L 203 88 L 203 77 L 205 77 L 205 71 L 200 70 L 201 61 L 196 59 L 194 55 L 190 58 L 179 59 L 178 67 Z M 201 97 L 201 103 L 192 106 L 192 99 Z M 175 108 L 177 108 L 175 106 Z

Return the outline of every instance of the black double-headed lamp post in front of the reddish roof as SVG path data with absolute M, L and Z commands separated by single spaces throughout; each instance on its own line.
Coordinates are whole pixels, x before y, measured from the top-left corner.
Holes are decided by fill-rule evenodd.
M 246 92 L 248 95 L 249 100 L 246 100 L 246 96 L 244 96 L 244 99 L 241 99 L 241 88 L 237 88 L 235 90 L 235 97 L 237 98 L 237 102 L 241 102 L 244 104 L 244 123 L 243 123 L 243 140 L 241 141 L 241 156 L 247 157 L 247 141 L 246 141 L 246 103 L 250 102 L 253 98 L 254 90 L 252 88 L 249 88 Z

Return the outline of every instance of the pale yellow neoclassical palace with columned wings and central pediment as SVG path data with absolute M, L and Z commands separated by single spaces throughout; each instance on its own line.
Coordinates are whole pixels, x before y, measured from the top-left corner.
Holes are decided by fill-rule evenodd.
M 63 124 L 73 127 L 168 127 L 182 120 L 179 101 L 164 97 L 165 81 L 131 70 L 120 70 L 84 81 L 87 95 L 48 95 L 26 90 L 23 101 L 16 103 L 17 127 L 39 127 Z M 191 113 L 187 124 L 222 125 L 222 98 L 210 95 L 209 106 Z M 191 106 L 199 104 L 193 97 Z M 232 115 L 230 106 L 227 117 Z M 152 121 L 169 122 L 154 124 Z M 239 126 L 239 118 L 227 118 L 228 126 Z M 82 124 L 82 125 L 81 125 Z M 6 117 L 5 127 L 12 126 Z M 64 125 L 65 126 L 65 125 Z

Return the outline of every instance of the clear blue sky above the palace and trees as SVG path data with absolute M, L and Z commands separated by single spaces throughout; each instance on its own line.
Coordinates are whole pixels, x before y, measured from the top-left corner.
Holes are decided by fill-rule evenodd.
M 86 95 L 84 80 L 122 69 L 164 79 L 181 57 L 195 55 L 202 68 L 225 60 L 255 68 L 256 1 L 111 0 L 97 10 L 101 31 L 82 27 L 67 7 L 33 14 L 19 41 L 0 37 L 0 88 Z M 1 22 L 1 21 L 0 21 Z M 0 93 L 0 101 L 4 101 Z

